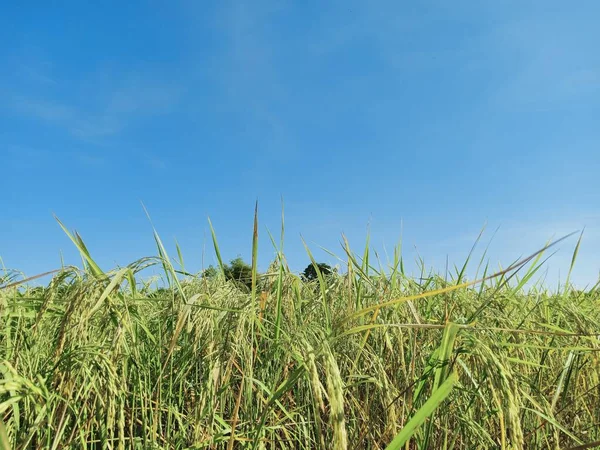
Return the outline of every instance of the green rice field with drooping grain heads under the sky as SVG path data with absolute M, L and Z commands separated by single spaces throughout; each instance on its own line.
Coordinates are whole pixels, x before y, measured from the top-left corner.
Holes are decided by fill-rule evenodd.
M 247 288 L 214 231 L 211 276 L 158 234 L 157 256 L 105 271 L 65 232 L 84 267 L 41 286 L 0 272 L 0 448 L 600 446 L 600 293 L 536 283 L 548 248 L 496 274 L 466 261 L 471 282 L 346 242 L 339 273 L 308 282 L 283 227 L 258 272 L 255 218 Z

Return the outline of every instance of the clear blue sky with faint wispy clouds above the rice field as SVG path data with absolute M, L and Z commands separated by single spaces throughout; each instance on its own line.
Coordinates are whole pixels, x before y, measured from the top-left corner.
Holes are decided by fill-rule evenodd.
M 46 2 L 3 6 L 0 257 L 28 275 L 77 254 L 107 269 L 155 254 L 143 201 L 190 270 L 261 257 L 493 265 L 586 227 L 573 277 L 600 260 L 597 1 Z M 564 278 L 576 239 L 548 280 Z M 483 250 L 482 246 L 482 250 Z M 418 253 L 417 253 L 418 252 Z M 321 260 L 335 263 L 317 250 Z M 385 258 L 384 258 L 385 259 Z M 560 274 L 560 275 L 559 275 Z

